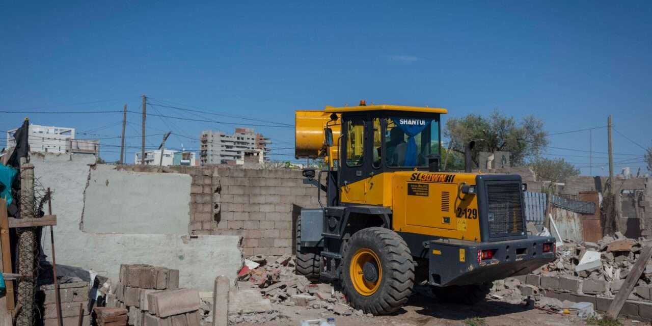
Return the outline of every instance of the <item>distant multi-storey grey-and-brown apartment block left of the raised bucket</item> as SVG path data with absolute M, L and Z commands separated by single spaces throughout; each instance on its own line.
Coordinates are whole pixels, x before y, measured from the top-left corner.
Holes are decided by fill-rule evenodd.
M 235 128 L 233 134 L 218 130 L 204 130 L 200 134 L 200 164 L 244 164 L 244 156 L 252 151 L 261 160 L 268 160 L 271 141 L 250 128 Z

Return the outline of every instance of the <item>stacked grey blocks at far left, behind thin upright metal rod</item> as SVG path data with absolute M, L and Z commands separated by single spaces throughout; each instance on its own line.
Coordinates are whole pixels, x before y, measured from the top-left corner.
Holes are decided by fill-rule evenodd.
M 77 326 L 80 311 L 82 312 L 81 316 L 83 316 L 83 325 L 89 325 L 91 319 L 87 308 L 89 283 L 83 282 L 80 278 L 61 278 L 58 282 L 63 326 Z M 43 325 L 57 326 L 54 284 L 40 286 L 37 297 L 43 300 Z

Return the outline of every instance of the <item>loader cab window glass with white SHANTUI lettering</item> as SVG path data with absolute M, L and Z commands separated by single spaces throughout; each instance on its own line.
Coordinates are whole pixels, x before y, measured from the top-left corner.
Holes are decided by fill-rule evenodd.
M 439 155 L 439 119 L 389 117 L 385 129 L 385 162 L 393 167 L 424 167 L 428 155 Z

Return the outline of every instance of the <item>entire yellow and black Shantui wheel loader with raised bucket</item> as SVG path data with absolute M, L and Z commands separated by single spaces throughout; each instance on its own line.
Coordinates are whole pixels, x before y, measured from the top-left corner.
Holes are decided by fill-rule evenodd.
M 400 309 L 427 280 L 436 297 L 473 304 L 490 283 L 555 259 L 528 235 L 519 175 L 439 170 L 442 108 L 364 105 L 296 111 L 295 156 L 319 206 L 297 219 L 297 273 L 339 280 L 353 307 Z

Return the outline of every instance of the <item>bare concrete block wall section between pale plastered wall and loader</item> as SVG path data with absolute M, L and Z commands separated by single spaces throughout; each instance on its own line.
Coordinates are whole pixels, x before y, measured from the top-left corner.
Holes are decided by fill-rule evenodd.
M 294 221 L 301 208 L 319 207 L 317 188 L 300 170 L 217 168 L 219 201 L 213 234 L 243 237 L 243 254 L 293 252 Z

